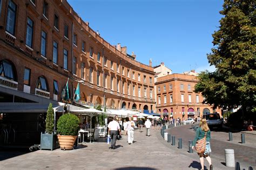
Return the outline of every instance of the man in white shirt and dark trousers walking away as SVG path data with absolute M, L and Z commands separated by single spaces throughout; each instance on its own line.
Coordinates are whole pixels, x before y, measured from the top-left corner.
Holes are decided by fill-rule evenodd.
M 111 147 L 110 148 L 112 148 L 114 150 L 114 148 L 116 147 L 118 131 L 119 131 L 119 134 L 121 133 L 120 126 L 119 126 L 119 123 L 117 122 L 116 117 L 114 117 L 113 121 L 111 121 L 109 123 L 109 125 L 107 125 L 107 128 L 109 128 L 109 134 L 111 137 Z

